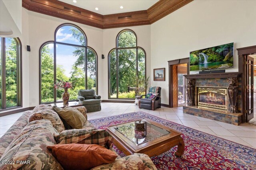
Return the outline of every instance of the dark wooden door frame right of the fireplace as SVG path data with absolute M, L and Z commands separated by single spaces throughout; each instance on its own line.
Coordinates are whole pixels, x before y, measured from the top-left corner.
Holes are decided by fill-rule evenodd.
M 256 54 L 256 45 L 236 49 L 238 51 L 238 72 L 242 72 L 242 123 L 246 122 L 246 99 L 245 99 L 245 82 L 244 82 L 244 56 Z

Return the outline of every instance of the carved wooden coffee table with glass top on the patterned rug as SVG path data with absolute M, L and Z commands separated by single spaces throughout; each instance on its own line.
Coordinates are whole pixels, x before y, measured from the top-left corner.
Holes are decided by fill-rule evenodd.
M 145 131 L 135 131 L 134 121 L 108 127 L 119 150 L 126 155 L 143 153 L 152 157 L 178 145 L 175 156 L 182 156 L 185 145 L 181 133 L 147 119 L 142 121 L 146 121 Z

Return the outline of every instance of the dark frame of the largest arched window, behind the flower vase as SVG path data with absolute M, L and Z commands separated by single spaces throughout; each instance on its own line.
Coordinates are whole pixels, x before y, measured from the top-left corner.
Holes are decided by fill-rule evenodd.
M 57 31 L 63 27 L 63 26 L 73 26 L 75 28 L 77 28 L 79 31 L 82 32 L 82 34 L 84 35 L 84 39 L 85 39 L 85 45 L 76 45 L 76 44 L 70 44 L 70 43 L 62 43 L 62 42 L 58 42 L 56 41 L 56 34 Z M 51 103 L 61 103 L 63 101 L 56 101 L 57 99 L 57 90 L 56 88 L 54 88 L 54 101 L 53 102 L 42 102 L 42 72 L 41 72 L 41 52 L 42 52 L 42 48 L 49 44 L 49 43 L 53 43 L 54 44 L 54 49 L 53 49 L 53 58 L 54 58 L 54 84 L 56 83 L 56 68 L 57 68 L 57 63 L 56 63 L 56 45 L 60 44 L 60 45 L 68 45 L 68 46 L 72 46 L 72 47 L 80 47 L 80 48 L 84 48 L 85 49 L 85 89 L 87 88 L 87 50 L 90 49 L 95 53 L 95 59 L 96 59 L 96 94 L 98 94 L 98 54 L 96 53 L 96 51 L 92 48 L 87 46 L 87 37 L 86 34 L 84 33 L 84 31 L 78 27 L 77 25 L 73 24 L 73 23 L 62 23 L 60 24 L 54 31 L 54 41 L 46 41 L 44 42 L 40 48 L 39 48 L 39 104 L 51 104 Z M 53 85 L 52 85 L 53 88 Z M 70 101 L 78 101 L 78 100 L 70 100 Z

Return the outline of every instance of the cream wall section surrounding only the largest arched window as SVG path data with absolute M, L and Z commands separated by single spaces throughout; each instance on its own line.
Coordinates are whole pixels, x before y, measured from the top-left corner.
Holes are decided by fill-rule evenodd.
M 68 20 L 62 20 L 36 12 L 27 10 L 22 11 L 22 15 L 28 12 L 28 36 L 31 51 L 29 52 L 29 72 L 24 71 L 24 74 L 29 75 L 29 106 L 37 106 L 39 104 L 39 48 L 46 41 L 54 41 L 54 31 L 58 25 L 62 23 L 74 23 L 78 25 L 87 37 L 88 46 L 92 47 L 98 54 L 98 75 L 102 76 L 102 60 L 101 54 L 103 49 L 103 30 L 80 23 L 75 23 Z M 23 23 L 24 24 L 24 23 Z M 23 33 L 26 31 L 23 29 Z M 100 80 L 100 79 L 99 79 Z M 100 81 L 99 81 L 100 84 Z M 102 94 L 103 88 L 99 87 L 99 94 Z

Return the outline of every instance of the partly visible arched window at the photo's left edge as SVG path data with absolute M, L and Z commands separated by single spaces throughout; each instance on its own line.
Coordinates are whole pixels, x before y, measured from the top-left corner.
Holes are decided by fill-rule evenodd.
M 22 106 L 21 43 L 0 37 L 0 110 Z

